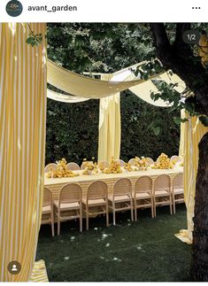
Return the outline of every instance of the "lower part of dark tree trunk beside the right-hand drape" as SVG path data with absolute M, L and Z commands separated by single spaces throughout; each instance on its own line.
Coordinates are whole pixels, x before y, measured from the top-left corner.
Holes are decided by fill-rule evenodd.
M 208 133 L 198 145 L 199 161 L 196 178 L 195 218 L 193 232 L 194 281 L 208 281 Z

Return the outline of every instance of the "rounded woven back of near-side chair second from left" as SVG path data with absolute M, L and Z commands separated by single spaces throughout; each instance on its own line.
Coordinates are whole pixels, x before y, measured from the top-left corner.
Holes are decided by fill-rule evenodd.
M 58 204 L 81 202 L 81 186 L 77 183 L 67 183 L 60 189 Z

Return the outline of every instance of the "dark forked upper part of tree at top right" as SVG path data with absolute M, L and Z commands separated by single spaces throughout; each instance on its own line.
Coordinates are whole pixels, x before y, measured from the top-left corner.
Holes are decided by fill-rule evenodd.
M 189 44 L 182 43 L 182 35 L 190 28 L 189 24 L 177 24 L 173 45 L 168 41 L 164 24 L 150 24 L 150 28 L 157 58 L 166 70 L 171 69 L 185 81 L 196 96 L 198 110 L 208 115 L 208 73 L 201 61 L 193 55 Z

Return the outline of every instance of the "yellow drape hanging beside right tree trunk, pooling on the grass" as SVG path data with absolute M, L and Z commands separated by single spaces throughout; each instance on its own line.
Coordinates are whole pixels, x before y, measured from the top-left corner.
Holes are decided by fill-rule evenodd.
M 198 143 L 208 128 L 196 118 L 189 118 L 184 124 L 184 198 L 187 207 L 188 229 L 181 229 L 176 235 L 185 243 L 192 243 L 192 231 L 194 229 L 193 217 L 196 193 L 196 174 L 198 166 Z

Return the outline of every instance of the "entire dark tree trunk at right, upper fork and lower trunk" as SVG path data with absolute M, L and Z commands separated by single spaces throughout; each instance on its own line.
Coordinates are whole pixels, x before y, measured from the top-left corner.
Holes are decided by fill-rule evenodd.
M 182 34 L 190 24 L 177 24 L 174 43 L 169 43 L 162 23 L 150 24 L 156 55 L 166 69 L 178 74 L 195 94 L 196 111 L 208 116 L 208 73 L 197 60 Z M 196 178 L 193 257 L 191 275 L 195 281 L 208 281 L 208 133 L 199 143 Z

